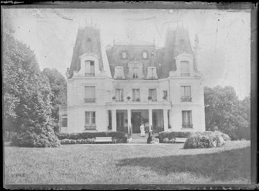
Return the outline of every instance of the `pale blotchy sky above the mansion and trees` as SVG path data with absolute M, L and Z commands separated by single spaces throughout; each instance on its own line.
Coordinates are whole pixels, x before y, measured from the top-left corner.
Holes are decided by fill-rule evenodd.
M 250 11 L 201 9 L 2 9 L 3 28 L 35 51 L 40 68 L 65 76 L 79 26 L 97 24 L 104 46 L 138 38 L 163 47 L 168 27 L 188 28 L 191 46 L 199 36 L 198 70 L 208 87 L 232 86 L 250 93 Z

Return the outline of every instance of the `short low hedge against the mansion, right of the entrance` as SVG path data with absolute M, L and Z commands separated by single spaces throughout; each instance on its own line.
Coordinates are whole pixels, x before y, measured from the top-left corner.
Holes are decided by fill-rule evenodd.
M 179 132 L 165 132 L 162 131 L 158 134 L 159 143 L 167 143 L 172 141 L 167 140 L 174 140 L 177 138 L 188 138 L 190 136 L 190 131 L 179 131 Z

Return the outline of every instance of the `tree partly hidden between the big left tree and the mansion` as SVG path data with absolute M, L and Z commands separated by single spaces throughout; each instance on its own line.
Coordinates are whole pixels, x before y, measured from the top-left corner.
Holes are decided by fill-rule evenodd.
M 59 105 L 67 102 L 67 82 L 57 69 L 44 68 L 43 74 L 48 77 L 51 85 L 52 118 L 55 122 L 54 131 L 58 131 Z

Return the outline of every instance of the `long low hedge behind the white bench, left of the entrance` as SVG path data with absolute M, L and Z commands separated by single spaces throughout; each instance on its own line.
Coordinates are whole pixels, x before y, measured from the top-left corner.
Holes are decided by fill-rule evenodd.
M 124 143 L 126 141 L 124 132 L 104 131 L 104 132 L 82 132 L 82 133 L 58 133 L 59 140 L 87 140 L 95 137 L 112 137 Z

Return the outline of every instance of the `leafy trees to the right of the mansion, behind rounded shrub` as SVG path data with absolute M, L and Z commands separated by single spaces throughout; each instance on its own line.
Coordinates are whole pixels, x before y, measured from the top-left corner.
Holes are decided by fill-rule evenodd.
M 250 105 L 231 86 L 204 88 L 206 130 L 220 130 L 232 139 L 247 137 Z

